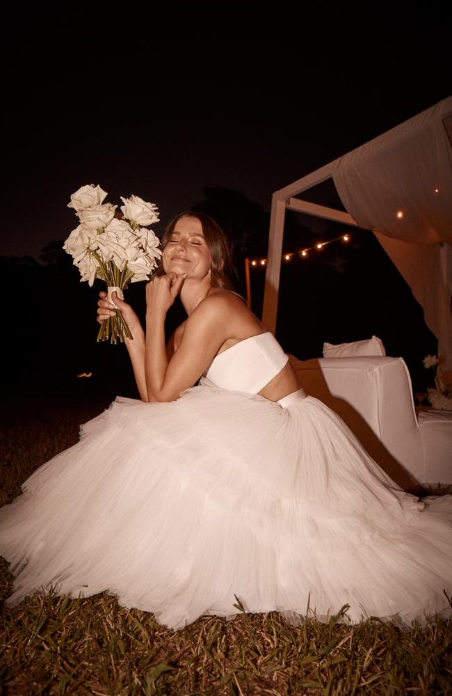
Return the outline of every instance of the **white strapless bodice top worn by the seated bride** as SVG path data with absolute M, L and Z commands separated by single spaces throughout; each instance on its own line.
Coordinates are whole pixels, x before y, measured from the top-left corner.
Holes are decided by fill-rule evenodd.
M 206 377 L 223 389 L 258 394 L 289 361 L 270 331 L 234 344 L 215 358 Z

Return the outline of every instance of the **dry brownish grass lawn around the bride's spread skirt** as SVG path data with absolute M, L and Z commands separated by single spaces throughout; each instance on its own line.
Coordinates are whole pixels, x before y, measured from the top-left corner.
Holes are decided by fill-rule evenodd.
M 107 405 L 9 402 L 0 413 L 0 503 Z M 173 632 L 106 594 L 35 594 L 10 610 L 11 582 L 1 560 L 2 695 L 452 694 L 452 619 L 403 631 L 371 620 L 291 626 L 273 612 L 243 612 Z

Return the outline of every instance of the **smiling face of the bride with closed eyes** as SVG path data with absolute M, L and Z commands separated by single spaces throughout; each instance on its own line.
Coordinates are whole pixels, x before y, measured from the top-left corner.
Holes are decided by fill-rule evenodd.
M 188 278 L 204 278 L 211 269 L 211 253 L 202 234 L 200 220 L 182 217 L 177 221 L 163 251 L 163 268 Z

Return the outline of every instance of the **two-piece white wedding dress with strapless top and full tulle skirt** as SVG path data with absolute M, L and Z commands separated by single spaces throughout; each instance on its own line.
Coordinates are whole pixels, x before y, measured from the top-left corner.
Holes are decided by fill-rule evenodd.
M 118 397 L 83 425 L 0 510 L 8 605 L 107 590 L 171 628 L 237 599 L 291 620 L 450 615 L 452 496 L 402 491 L 302 390 L 256 395 L 286 359 L 253 336 L 177 401 Z

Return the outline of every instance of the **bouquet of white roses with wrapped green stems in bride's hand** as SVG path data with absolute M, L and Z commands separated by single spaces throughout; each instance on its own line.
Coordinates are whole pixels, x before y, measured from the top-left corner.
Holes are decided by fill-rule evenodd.
M 107 299 L 115 291 L 120 299 L 129 281 L 148 280 L 161 256 L 159 239 L 147 227 L 159 221 L 154 203 L 138 196 L 122 198 L 122 216 L 115 212 L 117 205 L 103 203 L 107 196 L 99 186 L 89 184 L 72 193 L 67 207 L 74 208 L 80 224 L 72 230 L 63 248 L 74 258 L 81 272 L 81 281 L 92 286 L 95 278 L 107 284 Z M 114 317 L 102 322 L 97 340 L 116 343 L 124 335 L 133 338 L 129 326 L 117 308 Z

